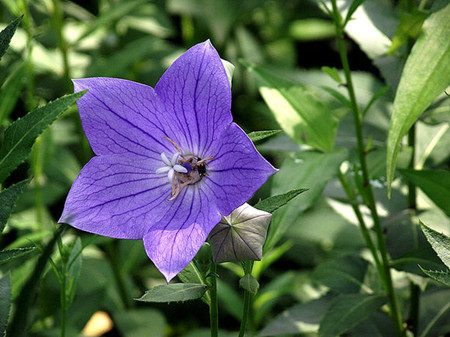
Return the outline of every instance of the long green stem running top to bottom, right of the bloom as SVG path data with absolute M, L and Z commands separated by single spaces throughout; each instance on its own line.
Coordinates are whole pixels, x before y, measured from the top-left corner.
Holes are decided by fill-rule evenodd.
M 381 255 L 382 265 L 383 265 L 383 273 L 380 274 L 380 277 L 383 280 L 384 288 L 387 293 L 389 307 L 390 307 L 390 316 L 392 319 L 392 323 L 394 325 L 394 330 L 396 336 L 404 336 L 403 329 L 403 320 L 400 314 L 400 310 L 397 303 L 397 297 L 394 291 L 394 285 L 392 282 L 391 270 L 389 265 L 389 259 L 386 249 L 386 242 L 384 238 L 383 228 L 381 226 L 380 218 L 377 213 L 375 198 L 372 191 L 372 186 L 370 184 L 369 179 L 369 170 L 367 167 L 366 161 L 366 153 L 364 146 L 364 139 L 362 133 L 362 116 L 360 107 L 356 101 L 355 90 L 353 87 L 352 76 L 350 72 L 350 66 L 347 58 L 347 51 L 344 43 L 344 32 L 342 28 L 342 20 L 339 14 L 336 0 L 332 0 L 333 12 L 334 12 L 334 22 L 336 25 L 336 35 L 337 35 L 337 44 L 339 47 L 339 55 L 342 62 L 342 67 L 345 74 L 346 79 L 346 87 L 349 94 L 350 102 L 352 105 L 352 114 L 353 114 L 353 123 L 355 127 L 356 139 L 357 139 L 357 147 L 358 147 L 358 157 L 361 164 L 361 171 L 363 175 L 363 188 L 365 190 L 365 195 L 367 196 L 367 206 L 369 207 L 373 222 L 374 229 L 376 232 L 378 250 Z

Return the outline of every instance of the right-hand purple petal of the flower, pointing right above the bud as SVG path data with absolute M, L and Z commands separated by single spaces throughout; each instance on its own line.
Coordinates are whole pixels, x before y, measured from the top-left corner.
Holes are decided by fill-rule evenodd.
M 215 158 L 207 163 L 207 176 L 203 180 L 216 196 L 223 215 L 249 200 L 277 172 L 235 123 L 227 126 L 208 151 Z

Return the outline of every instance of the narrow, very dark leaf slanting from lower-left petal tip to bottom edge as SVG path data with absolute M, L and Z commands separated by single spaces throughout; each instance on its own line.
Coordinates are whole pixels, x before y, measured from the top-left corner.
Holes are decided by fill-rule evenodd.
M 28 327 L 28 314 L 33 308 L 33 301 L 35 300 L 36 291 L 41 281 L 41 276 L 44 273 L 47 261 L 53 252 L 53 247 L 64 230 L 65 226 L 60 226 L 55 233 L 53 238 L 44 247 L 41 255 L 38 258 L 36 265 L 34 266 L 33 272 L 27 279 L 19 292 L 16 299 L 16 305 L 14 306 L 14 311 L 11 316 L 10 323 L 8 325 L 7 336 L 15 337 L 25 337 Z

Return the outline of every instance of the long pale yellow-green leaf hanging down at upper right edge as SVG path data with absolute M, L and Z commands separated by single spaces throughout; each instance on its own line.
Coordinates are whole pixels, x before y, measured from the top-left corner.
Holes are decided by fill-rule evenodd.
M 409 55 L 395 95 L 388 135 L 388 195 L 402 137 L 450 84 L 450 4 L 433 13 Z

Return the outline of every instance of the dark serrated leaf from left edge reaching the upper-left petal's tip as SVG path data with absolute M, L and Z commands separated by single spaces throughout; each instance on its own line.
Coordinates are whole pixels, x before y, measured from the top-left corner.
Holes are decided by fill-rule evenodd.
M 39 107 L 5 130 L 0 149 L 0 183 L 28 157 L 36 138 L 85 92 L 67 95 Z

